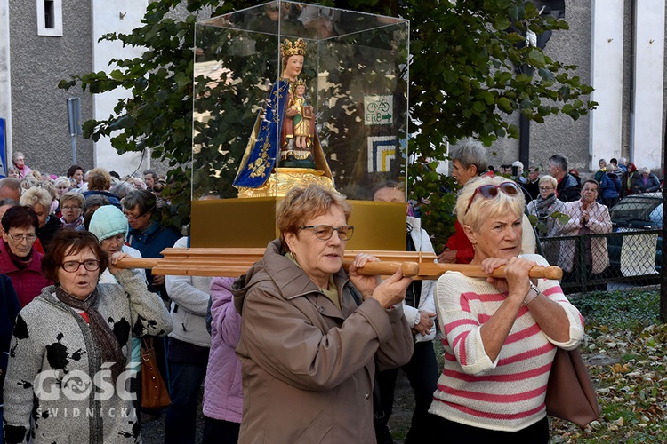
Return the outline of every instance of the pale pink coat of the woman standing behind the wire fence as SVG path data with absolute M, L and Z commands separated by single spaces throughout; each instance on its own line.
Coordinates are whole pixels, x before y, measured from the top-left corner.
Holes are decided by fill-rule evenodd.
M 591 234 L 611 233 L 612 222 L 609 210 L 605 205 L 592 202 L 588 209 L 589 221 L 586 225 Z M 563 226 L 560 234 L 572 236 L 579 233 L 582 227 L 582 201 L 566 202 L 565 214 L 570 217 L 567 224 Z M 575 241 L 563 241 L 560 245 L 559 266 L 566 272 L 571 272 L 575 260 Z M 609 266 L 609 253 L 607 252 L 606 237 L 591 238 L 592 273 L 598 274 L 605 271 Z

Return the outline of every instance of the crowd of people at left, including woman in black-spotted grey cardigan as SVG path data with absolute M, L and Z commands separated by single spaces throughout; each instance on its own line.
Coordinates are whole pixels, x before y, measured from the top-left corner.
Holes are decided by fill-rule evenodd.
M 141 419 L 162 414 L 139 408 L 140 338 L 158 338 L 167 377 L 173 316 L 164 276 L 117 264 L 181 238 L 162 223 L 165 179 L 12 163 L 0 179 L 0 442 L 139 442 Z

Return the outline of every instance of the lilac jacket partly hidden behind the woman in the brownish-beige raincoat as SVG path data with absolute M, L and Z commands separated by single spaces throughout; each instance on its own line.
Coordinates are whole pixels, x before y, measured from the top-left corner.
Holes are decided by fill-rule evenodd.
M 243 415 L 241 361 L 235 353 L 241 336 L 241 315 L 229 292 L 234 278 L 211 281 L 211 351 L 204 383 L 204 415 L 240 423 Z

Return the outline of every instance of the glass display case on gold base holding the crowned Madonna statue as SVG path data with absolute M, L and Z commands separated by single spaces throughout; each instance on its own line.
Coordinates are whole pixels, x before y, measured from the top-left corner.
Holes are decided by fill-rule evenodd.
M 349 248 L 405 249 L 405 204 L 371 200 L 405 178 L 408 37 L 407 20 L 286 1 L 197 22 L 193 246 L 264 247 L 281 196 L 319 183 L 354 207 Z

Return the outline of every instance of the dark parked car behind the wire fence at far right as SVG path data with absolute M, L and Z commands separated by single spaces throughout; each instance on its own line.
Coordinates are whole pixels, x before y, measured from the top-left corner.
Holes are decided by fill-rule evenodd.
M 623 276 L 659 273 L 663 256 L 662 234 L 630 233 L 663 228 L 663 194 L 625 196 L 609 210 L 609 216 L 613 233 L 617 233 L 607 238 L 611 273 Z

